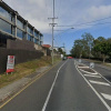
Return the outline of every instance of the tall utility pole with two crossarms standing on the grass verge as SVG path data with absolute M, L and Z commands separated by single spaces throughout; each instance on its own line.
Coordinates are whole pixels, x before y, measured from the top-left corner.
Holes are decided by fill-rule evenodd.
M 58 18 L 54 17 L 54 0 L 53 0 L 53 17 L 48 18 L 48 19 L 52 19 L 52 23 L 49 23 L 49 24 L 52 26 L 52 56 L 51 57 L 52 57 L 52 64 L 53 64 L 53 36 L 54 36 L 53 30 L 54 30 L 54 26 L 57 24 L 57 23 L 54 23 L 54 19 L 58 19 Z

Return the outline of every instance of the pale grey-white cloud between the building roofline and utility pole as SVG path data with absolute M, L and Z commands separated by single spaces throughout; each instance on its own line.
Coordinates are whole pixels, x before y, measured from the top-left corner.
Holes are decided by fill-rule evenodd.
M 50 0 L 4 0 L 12 9 L 29 21 L 41 33 L 50 33 L 48 18 L 51 17 Z

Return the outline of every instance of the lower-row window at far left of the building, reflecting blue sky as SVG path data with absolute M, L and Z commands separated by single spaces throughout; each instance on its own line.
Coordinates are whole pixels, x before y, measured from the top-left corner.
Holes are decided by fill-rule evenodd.
M 0 19 L 0 30 L 11 33 L 11 24 Z

